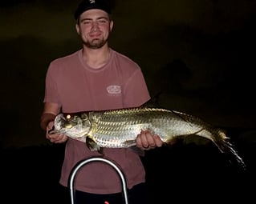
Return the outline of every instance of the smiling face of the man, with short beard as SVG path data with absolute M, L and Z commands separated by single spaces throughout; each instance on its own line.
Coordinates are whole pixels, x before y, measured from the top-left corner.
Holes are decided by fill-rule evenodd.
M 113 22 L 104 10 L 87 10 L 79 17 L 76 31 L 83 44 L 91 49 L 98 49 L 108 42 Z

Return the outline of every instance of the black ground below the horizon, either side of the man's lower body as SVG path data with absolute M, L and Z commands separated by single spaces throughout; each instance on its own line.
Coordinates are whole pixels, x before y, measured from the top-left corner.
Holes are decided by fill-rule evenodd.
M 142 158 L 154 203 L 253 203 L 256 142 L 229 130 L 246 170 L 212 144 L 177 142 L 150 150 Z M 70 203 L 59 188 L 63 145 L 2 150 L 2 203 Z

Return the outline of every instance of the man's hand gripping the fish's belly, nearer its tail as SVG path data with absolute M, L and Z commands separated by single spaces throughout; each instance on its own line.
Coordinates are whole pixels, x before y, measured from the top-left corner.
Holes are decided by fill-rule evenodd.
M 162 145 L 161 138 L 156 134 L 151 134 L 148 130 L 141 130 L 140 134 L 137 135 L 136 146 L 142 150 L 151 150 Z

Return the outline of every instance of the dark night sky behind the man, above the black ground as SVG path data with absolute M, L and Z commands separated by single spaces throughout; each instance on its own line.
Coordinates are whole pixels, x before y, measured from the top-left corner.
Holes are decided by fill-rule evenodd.
M 47 143 L 39 127 L 44 78 L 51 60 L 81 47 L 77 2 L 0 2 L 2 148 Z M 113 6 L 110 46 L 140 64 L 154 102 L 216 126 L 254 130 L 254 0 Z

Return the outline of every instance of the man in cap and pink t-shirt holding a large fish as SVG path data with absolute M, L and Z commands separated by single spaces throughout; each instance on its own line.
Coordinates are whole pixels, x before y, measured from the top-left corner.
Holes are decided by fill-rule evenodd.
M 54 143 L 66 143 L 60 184 L 68 185 L 75 164 L 83 159 L 100 156 L 83 142 L 63 134 L 47 134 L 59 112 L 112 110 L 142 106 L 150 99 L 140 66 L 130 58 L 112 50 L 108 37 L 112 31 L 111 8 L 104 0 L 84 0 L 75 11 L 75 29 L 82 49 L 51 62 L 47 70 L 44 110 L 41 126 L 46 138 Z M 161 146 L 158 135 L 141 131 L 136 146 L 150 150 Z M 136 151 L 129 148 L 105 148 L 104 156 L 116 162 L 128 182 L 129 203 L 147 203 L 144 166 Z M 76 175 L 75 202 L 121 203 L 122 186 L 112 166 L 94 162 Z

